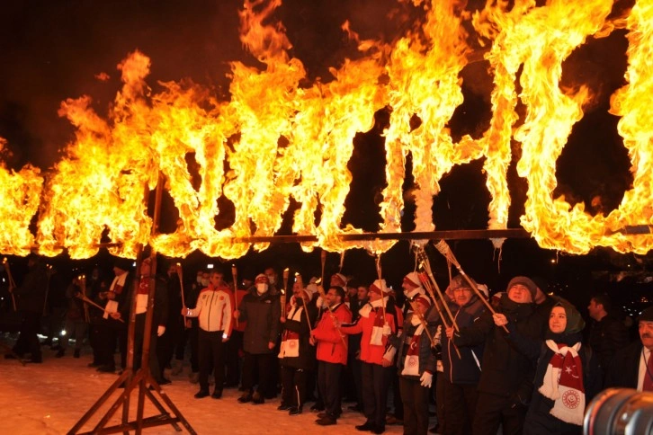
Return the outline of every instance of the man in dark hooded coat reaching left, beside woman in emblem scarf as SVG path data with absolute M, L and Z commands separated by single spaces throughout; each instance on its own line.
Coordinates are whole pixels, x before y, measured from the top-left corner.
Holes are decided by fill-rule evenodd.
M 533 315 L 536 292 L 537 285 L 532 280 L 515 277 L 508 283 L 496 311 L 514 323 L 515 330 L 524 337 L 541 340 L 546 323 L 541 316 Z M 447 328 L 446 335 L 459 349 L 485 342 L 472 433 L 495 435 L 499 426 L 503 426 L 504 433 L 521 433 L 532 394 L 532 361 L 515 349 L 489 312 L 458 333 Z

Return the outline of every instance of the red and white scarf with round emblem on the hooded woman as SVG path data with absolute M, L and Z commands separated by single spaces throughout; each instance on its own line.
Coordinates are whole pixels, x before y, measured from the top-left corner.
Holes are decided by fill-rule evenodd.
M 583 363 L 578 357 L 580 343 L 569 347 L 547 340 L 546 345 L 553 356 L 547 366 L 539 391 L 555 401 L 550 414 L 563 422 L 583 425 L 585 413 L 585 387 L 583 386 Z

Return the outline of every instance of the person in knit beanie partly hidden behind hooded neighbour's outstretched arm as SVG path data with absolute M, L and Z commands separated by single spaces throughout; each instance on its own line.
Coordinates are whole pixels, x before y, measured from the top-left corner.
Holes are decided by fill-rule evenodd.
M 474 280 L 470 280 L 476 284 Z M 452 295 L 449 308 L 459 328 L 471 328 L 476 319 L 486 312 L 483 301 L 462 275 L 455 276 L 447 289 Z M 460 346 L 457 350 L 452 341 L 442 338 L 442 361 L 444 378 L 444 421 L 447 434 L 471 432 L 478 400 L 477 386 L 481 375 L 484 343 Z M 460 357 L 459 357 L 460 353 Z

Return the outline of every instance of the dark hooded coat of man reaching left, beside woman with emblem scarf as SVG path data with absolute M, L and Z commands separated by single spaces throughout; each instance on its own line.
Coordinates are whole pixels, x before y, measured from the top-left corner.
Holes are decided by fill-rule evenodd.
M 541 340 L 546 324 L 541 316 L 532 315 L 533 310 L 534 304 L 516 304 L 504 295 L 497 311 L 514 323 L 516 331 L 521 335 Z M 459 349 L 485 342 L 479 391 L 511 398 L 514 404 L 527 405 L 531 397 L 535 367 L 532 360 L 517 350 L 505 335 L 503 328 L 495 326 L 492 315 L 486 312 L 472 326 L 454 333 L 453 342 Z

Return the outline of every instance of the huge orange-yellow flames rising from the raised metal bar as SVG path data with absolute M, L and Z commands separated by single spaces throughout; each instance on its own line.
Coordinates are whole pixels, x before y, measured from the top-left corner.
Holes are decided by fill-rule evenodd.
M 23 255 L 37 246 L 46 255 L 67 249 L 72 258 L 85 258 L 97 252 L 97 244 L 111 242 L 112 253 L 128 257 L 138 244 L 152 244 L 173 257 L 200 250 L 237 258 L 252 245 L 235 239 L 275 234 L 291 200 L 298 204 L 292 231 L 318 237 L 303 249 L 385 252 L 394 242 L 341 239 L 362 232 L 342 224 L 353 138 L 371 129 L 374 113 L 384 107 L 391 114 L 380 232 L 401 231 L 408 155 L 416 184 L 411 190 L 415 231 L 434 229 L 433 197 L 443 176 L 481 157 L 491 197 L 488 227 L 505 228 L 510 207 L 506 171 L 511 143 L 517 143 L 522 148 L 517 170 L 528 181 L 522 225 L 541 246 L 569 253 L 594 246 L 623 253 L 651 249 L 653 236 L 618 231 L 653 223 L 649 1 L 636 2 L 622 24 L 629 30 L 628 84 L 613 95 L 611 111 L 622 117 L 619 132 L 634 182 L 620 208 L 607 217 L 590 216 L 582 205 L 572 208 L 563 198 L 553 199 L 552 192 L 556 160 L 589 97 L 584 87 L 560 88 L 562 63 L 587 38 L 611 29 L 614 23 L 606 19 L 613 0 L 550 0 L 539 7 L 533 0 L 516 0 L 509 10 L 503 2 L 488 0 L 473 16 L 453 0 L 415 0 L 414 6 L 425 10 L 423 22 L 392 43 L 359 40 L 345 23 L 343 31 L 357 41 L 359 56 L 333 67 L 332 79 L 315 83 L 309 83 L 300 59 L 291 56 L 282 23 L 273 19 L 281 4 L 245 1 L 241 40 L 259 64 L 231 63 L 228 101 L 189 81 L 160 83 L 163 91 L 154 93 L 147 82 L 150 59 L 135 51 L 118 66 L 123 85 L 106 119 L 92 109 L 88 96 L 63 102 L 59 114 L 76 127 L 76 137 L 45 183 L 30 165 L 12 172 L 0 161 L 0 252 Z M 473 56 L 467 43 L 472 27 L 489 45 L 493 116 L 482 138 L 466 136 L 454 143 L 447 124 L 463 102 L 461 71 Z M 518 102 L 525 116 L 516 127 Z M 0 151 L 4 146 L 0 138 Z M 190 161 L 199 185 L 193 186 Z M 152 235 L 146 199 L 159 174 L 179 220 L 172 234 Z M 235 218 L 217 228 L 220 199 L 233 203 Z M 39 207 L 34 236 L 30 224 Z

